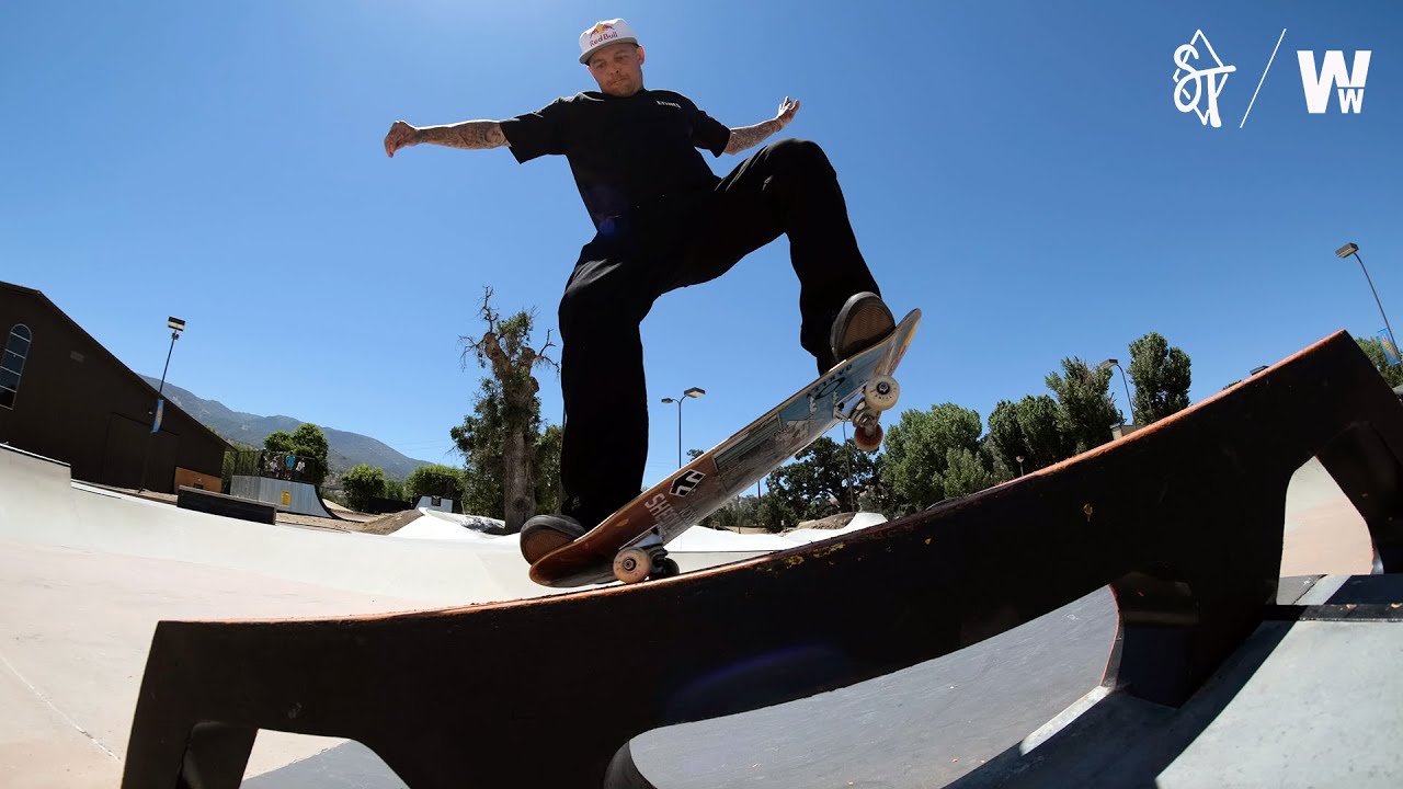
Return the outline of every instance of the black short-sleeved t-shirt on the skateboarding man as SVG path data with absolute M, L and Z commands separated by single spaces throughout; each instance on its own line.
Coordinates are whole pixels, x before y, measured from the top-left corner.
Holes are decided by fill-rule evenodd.
M 547 153 L 570 160 L 595 226 L 662 195 L 714 187 L 697 149 L 721 156 L 731 139 L 731 129 L 669 90 L 626 98 L 585 91 L 501 126 L 518 161 Z

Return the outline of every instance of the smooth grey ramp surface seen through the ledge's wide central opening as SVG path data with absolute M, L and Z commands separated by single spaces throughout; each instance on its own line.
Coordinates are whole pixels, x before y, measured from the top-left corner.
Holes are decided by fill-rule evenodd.
M 944 786 L 1096 688 L 1114 639 L 1115 601 L 1100 590 L 954 654 L 630 748 L 659 789 Z

